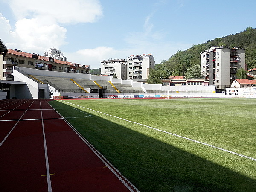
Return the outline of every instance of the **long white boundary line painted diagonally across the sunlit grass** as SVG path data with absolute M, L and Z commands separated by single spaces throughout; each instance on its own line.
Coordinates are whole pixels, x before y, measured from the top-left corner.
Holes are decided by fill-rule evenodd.
M 66 101 L 62 101 L 62 102 L 66 102 Z M 69 103 L 69 104 L 71 104 L 71 105 L 76 105 L 76 104 L 73 104 L 73 103 L 70 103 L 70 102 L 66 102 L 66 103 Z M 129 120 L 127 120 L 127 119 L 123 119 L 123 118 L 120 118 L 120 117 L 118 117 L 118 116 L 113 116 L 113 115 L 110 115 L 110 114 L 107 114 L 107 113 L 103 113 L 103 112 L 100 112 L 100 111 L 96 111 L 96 110 L 93 110 L 93 109 L 90 109 L 90 108 L 86 108 L 86 107 L 83 107 L 83 106 L 80 106 L 80 105 L 76 105 L 76 106 L 81 107 L 81 108 L 85 108 L 85 109 L 88 109 L 88 110 L 91 110 L 91 111 L 95 111 L 95 112 L 98 112 L 98 113 L 102 113 L 102 114 L 104 114 L 104 115 L 112 116 L 112 117 L 115 117 L 115 118 L 117 118 L 117 119 L 122 119 L 122 120 L 127 121 L 127 122 L 135 123 L 135 124 L 137 124 L 137 125 L 142 125 L 142 126 L 144 126 L 144 127 L 151 128 L 151 129 L 154 129 L 154 130 L 156 130 L 156 131 L 161 131 L 161 132 L 166 133 L 166 134 L 170 134 L 170 135 L 173 135 L 173 136 L 176 136 L 176 137 L 180 137 L 180 138 L 183 138 L 183 139 L 186 139 L 186 140 L 189 140 L 189 141 L 193 141 L 193 142 L 195 142 L 195 143 L 200 143 L 200 144 L 202 144 L 202 145 L 207 145 L 207 146 L 209 146 L 209 147 L 216 148 L 216 149 L 219 149 L 219 150 L 221 150 L 221 151 L 226 151 L 226 152 L 228 152 L 228 153 L 235 154 L 235 155 L 238 155 L 238 156 L 240 156 L 240 157 L 244 157 L 244 158 L 247 158 L 247 159 L 256 161 L 256 159 L 253 158 L 253 157 L 248 157 L 248 156 L 246 156 L 246 155 L 239 154 L 239 153 L 236 153 L 236 152 L 233 152 L 233 151 L 229 151 L 229 150 L 224 149 L 224 148 L 216 147 L 216 146 L 214 146 L 214 145 L 209 145 L 209 144 L 204 143 L 204 142 L 201 142 L 201 141 L 193 140 L 193 139 L 190 139 L 190 138 L 187 138 L 187 137 L 183 137 L 183 136 L 180 136 L 180 135 L 177 135 L 177 134 L 173 134 L 173 133 L 170 133 L 170 132 L 167 132 L 167 131 L 163 131 L 163 130 L 161 130 L 161 129 L 157 129 L 157 128 L 154 128 L 154 127 L 150 127 L 150 126 L 148 126 L 148 125 L 143 125 L 143 124 L 140 124 L 140 123 L 137 123 L 137 122 L 129 121 Z

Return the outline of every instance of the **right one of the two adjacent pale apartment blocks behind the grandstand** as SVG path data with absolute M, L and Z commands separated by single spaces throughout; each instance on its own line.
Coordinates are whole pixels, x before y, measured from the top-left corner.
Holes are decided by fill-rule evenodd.
M 148 55 L 131 55 L 127 58 L 127 79 L 147 79 L 149 69 L 154 68 L 155 61 L 151 53 Z

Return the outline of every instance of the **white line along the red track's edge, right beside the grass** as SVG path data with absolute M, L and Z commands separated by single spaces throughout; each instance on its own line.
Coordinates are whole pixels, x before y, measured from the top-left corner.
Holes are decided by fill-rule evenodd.
M 56 113 L 58 113 L 58 111 L 56 111 Z M 60 113 L 58 113 L 58 114 L 63 118 L 63 120 L 67 123 L 67 125 L 69 125 L 70 128 L 81 138 L 81 140 L 93 151 L 93 153 L 96 154 L 96 156 L 99 157 L 99 159 L 102 160 L 102 162 L 106 166 L 108 166 L 108 168 L 111 170 L 111 172 L 113 172 L 113 174 L 116 175 L 116 177 L 129 189 L 129 191 L 131 191 L 131 192 L 135 192 L 135 191 L 139 192 L 139 190 L 128 179 L 126 179 L 118 171 L 118 169 L 116 169 L 102 154 L 100 154 L 99 151 L 96 151 L 96 149 L 93 147 L 93 145 L 91 145 L 83 136 L 81 136 L 81 134 L 79 134 L 79 132 L 77 132 L 76 129 L 73 128 L 73 126 Z M 119 175 L 121 175 L 122 177 L 120 177 Z M 126 180 L 126 182 L 125 182 L 125 180 Z M 131 189 L 131 187 L 128 184 L 130 184 L 134 188 L 134 190 Z

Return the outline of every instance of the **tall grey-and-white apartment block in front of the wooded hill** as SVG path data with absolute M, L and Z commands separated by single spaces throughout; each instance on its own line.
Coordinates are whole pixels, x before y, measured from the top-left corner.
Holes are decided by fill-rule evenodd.
M 200 54 L 201 70 L 209 85 L 216 89 L 230 87 L 236 79 L 239 68 L 246 69 L 245 49 L 229 47 L 211 47 Z

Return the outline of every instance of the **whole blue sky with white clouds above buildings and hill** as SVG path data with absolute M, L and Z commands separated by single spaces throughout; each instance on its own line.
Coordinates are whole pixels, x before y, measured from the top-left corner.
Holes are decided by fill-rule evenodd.
M 32 3 L 33 2 L 33 3 Z M 255 0 L 0 0 L 0 38 L 9 49 L 70 62 L 151 53 L 156 64 L 178 50 L 256 28 Z

